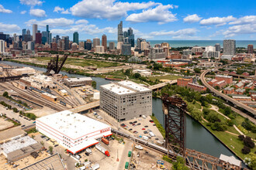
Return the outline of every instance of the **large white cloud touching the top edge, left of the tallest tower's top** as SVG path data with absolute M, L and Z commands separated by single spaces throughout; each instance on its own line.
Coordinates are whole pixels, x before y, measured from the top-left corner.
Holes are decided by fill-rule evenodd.
M 128 11 L 150 8 L 157 3 L 116 2 L 116 0 L 82 0 L 70 8 L 72 15 L 94 19 L 120 19 Z

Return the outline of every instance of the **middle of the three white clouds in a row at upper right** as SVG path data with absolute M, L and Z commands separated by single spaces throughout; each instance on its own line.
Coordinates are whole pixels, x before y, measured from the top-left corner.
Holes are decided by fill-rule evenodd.
M 202 19 L 200 21 L 200 24 L 202 26 L 210 26 L 210 25 L 223 26 L 223 25 L 226 25 L 227 22 L 231 22 L 231 21 L 235 21 L 235 20 L 236 20 L 236 18 L 234 18 L 232 15 L 223 17 L 223 18 L 212 17 L 209 19 Z

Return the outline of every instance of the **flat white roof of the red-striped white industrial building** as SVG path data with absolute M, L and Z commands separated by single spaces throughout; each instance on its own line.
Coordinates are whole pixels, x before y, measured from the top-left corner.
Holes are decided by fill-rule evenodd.
M 81 138 L 85 134 L 110 128 L 108 124 L 95 121 L 92 118 L 64 110 L 36 119 L 36 124 L 43 124 L 71 139 Z

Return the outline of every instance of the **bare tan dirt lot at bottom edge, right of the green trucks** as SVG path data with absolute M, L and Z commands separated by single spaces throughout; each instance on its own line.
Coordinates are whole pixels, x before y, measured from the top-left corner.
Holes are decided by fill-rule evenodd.
M 147 151 L 147 152 L 146 152 Z M 139 153 L 139 157 L 137 156 Z M 135 148 L 133 150 L 133 157 L 132 162 L 136 165 L 137 170 L 144 170 L 144 169 L 160 169 L 157 166 L 157 160 L 163 161 L 163 155 L 158 154 L 155 151 L 151 151 L 150 149 L 144 148 L 143 150 L 139 150 Z M 171 169 L 171 164 L 164 161 L 164 167 L 167 169 Z

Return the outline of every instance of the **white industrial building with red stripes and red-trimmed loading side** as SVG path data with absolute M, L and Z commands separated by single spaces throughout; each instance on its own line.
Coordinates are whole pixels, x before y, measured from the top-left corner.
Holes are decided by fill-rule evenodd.
M 108 124 L 70 110 L 36 119 L 36 130 L 54 139 L 71 154 L 98 144 L 98 139 L 112 135 Z

